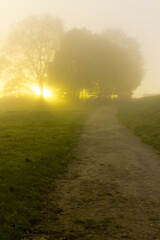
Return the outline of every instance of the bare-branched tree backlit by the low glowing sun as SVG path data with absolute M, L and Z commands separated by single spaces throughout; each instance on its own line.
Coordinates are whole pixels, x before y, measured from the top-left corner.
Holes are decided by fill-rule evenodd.
M 50 15 L 26 18 L 11 27 L 7 43 L 7 56 L 15 77 L 31 79 L 43 89 L 48 65 L 59 49 L 63 22 Z

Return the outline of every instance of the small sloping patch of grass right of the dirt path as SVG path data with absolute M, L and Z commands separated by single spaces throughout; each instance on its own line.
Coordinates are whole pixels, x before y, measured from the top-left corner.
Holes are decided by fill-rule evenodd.
M 160 152 L 160 96 L 128 102 L 121 108 L 119 119 L 143 142 Z

